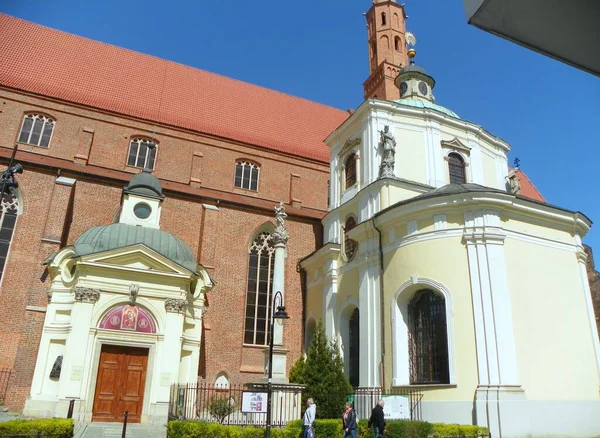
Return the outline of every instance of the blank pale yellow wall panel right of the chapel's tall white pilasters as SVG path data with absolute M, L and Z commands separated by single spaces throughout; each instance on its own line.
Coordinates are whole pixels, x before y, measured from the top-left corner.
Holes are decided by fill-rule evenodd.
M 511 238 L 505 241 L 505 251 L 519 377 L 527 398 L 598 399 L 598 372 L 575 253 Z

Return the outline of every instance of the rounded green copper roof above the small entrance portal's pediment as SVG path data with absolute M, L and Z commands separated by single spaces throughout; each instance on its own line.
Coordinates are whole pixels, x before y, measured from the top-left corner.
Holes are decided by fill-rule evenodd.
M 110 224 L 90 228 L 75 241 L 75 256 L 84 256 L 136 244 L 146 245 L 169 260 L 196 272 L 194 254 L 181 239 L 155 228 Z

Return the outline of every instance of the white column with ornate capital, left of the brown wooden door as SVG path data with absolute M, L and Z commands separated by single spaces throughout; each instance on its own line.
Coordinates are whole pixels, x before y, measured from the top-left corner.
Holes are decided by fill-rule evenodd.
M 57 412 L 68 409 L 68 399 L 84 401 L 83 376 L 89 364 L 85 363 L 90 346 L 90 329 L 94 305 L 100 299 L 100 291 L 86 287 L 76 287 L 73 291 L 74 304 L 71 313 L 71 332 L 65 346 L 65 356 L 60 375 L 59 404 Z

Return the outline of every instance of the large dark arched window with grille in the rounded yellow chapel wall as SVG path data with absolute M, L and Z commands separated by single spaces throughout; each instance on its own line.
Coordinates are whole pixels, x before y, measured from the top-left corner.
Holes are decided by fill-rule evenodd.
M 410 383 L 450 383 L 444 297 L 418 291 L 408 305 Z

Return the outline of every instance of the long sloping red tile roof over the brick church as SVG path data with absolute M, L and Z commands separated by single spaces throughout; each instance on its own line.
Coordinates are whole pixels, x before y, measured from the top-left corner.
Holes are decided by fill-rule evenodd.
M 347 117 L 306 99 L 0 14 L 0 85 L 329 162 Z

